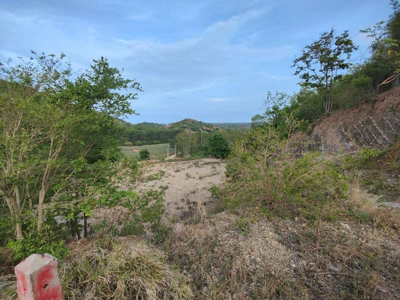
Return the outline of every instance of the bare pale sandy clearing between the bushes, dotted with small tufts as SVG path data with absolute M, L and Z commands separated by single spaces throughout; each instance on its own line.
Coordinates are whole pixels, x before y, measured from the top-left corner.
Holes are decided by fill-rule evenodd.
M 164 172 L 162 178 L 147 181 L 145 187 L 165 191 L 165 216 L 170 218 L 186 209 L 186 200 L 209 205 L 208 188 L 223 180 L 225 162 L 216 158 L 158 162 L 149 166 L 145 176 L 160 171 Z

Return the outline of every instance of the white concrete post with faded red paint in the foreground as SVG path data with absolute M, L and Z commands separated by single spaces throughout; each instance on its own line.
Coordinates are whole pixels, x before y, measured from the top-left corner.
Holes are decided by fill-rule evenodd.
M 50 254 L 31 254 L 15 266 L 18 300 L 61 300 L 57 259 Z

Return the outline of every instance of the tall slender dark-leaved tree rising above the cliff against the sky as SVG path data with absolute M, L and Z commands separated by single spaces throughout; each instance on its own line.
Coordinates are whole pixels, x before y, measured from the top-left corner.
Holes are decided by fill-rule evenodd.
M 299 57 L 295 57 L 292 67 L 295 75 L 300 74 L 303 87 L 316 88 L 323 93 L 324 112 L 332 110 L 333 94 L 329 94 L 340 71 L 347 69 L 351 53 L 358 47 L 348 37 L 348 31 L 335 36 L 335 30 L 323 32 L 318 40 L 306 45 Z

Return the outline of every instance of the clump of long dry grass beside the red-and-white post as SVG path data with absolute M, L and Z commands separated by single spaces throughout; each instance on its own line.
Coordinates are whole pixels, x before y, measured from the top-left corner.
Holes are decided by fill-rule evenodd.
M 140 240 L 103 240 L 63 260 L 64 299 L 187 299 L 187 280 Z

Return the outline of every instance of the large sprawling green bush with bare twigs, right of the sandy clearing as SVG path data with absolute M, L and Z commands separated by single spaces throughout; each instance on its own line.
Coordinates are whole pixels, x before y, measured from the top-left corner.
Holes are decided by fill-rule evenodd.
M 288 119 L 288 127 L 300 124 Z M 281 139 L 273 126 L 250 131 L 232 149 L 224 201 L 233 207 L 266 207 L 281 216 L 336 218 L 348 190 L 347 178 L 332 158 L 319 152 L 300 154 L 300 146 L 306 148 L 306 143 L 291 135 Z

